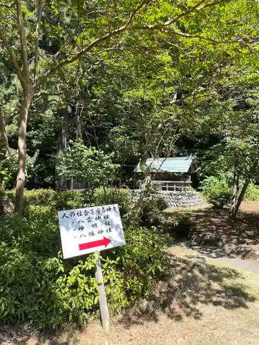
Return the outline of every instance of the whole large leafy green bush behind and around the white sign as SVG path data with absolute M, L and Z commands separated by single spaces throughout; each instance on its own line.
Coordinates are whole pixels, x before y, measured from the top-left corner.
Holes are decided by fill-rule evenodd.
M 56 201 L 50 206 L 30 205 L 26 217 L 0 219 L 2 320 L 24 319 L 38 328 L 54 328 L 68 322 L 82 324 L 98 313 L 95 257 L 61 259 L 52 202 Z M 166 265 L 165 237 L 134 227 L 126 228 L 125 236 L 126 246 L 102 252 L 106 294 L 113 312 L 148 294 Z

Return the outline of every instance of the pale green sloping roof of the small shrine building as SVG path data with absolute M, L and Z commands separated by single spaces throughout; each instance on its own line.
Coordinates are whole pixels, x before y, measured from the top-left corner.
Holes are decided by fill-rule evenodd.
M 151 167 L 151 170 L 165 171 L 165 172 L 188 172 L 193 157 L 168 157 L 168 158 L 148 158 L 146 165 Z M 140 163 L 135 168 L 136 172 L 140 172 Z

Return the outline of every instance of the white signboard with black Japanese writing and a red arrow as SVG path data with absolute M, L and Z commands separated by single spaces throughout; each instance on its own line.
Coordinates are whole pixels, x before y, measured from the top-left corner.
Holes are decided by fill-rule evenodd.
M 117 204 L 59 211 L 59 228 L 64 259 L 125 244 Z

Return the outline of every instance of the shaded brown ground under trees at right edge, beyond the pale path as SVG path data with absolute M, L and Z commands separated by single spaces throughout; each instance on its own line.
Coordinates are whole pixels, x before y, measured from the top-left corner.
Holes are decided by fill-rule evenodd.
M 244 206 L 247 206 L 244 204 Z M 229 219 L 229 210 L 175 211 L 173 215 L 189 217 L 195 224 L 191 241 L 186 243 L 202 255 L 209 257 L 233 257 L 257 259 L 259 252 L 259 202 L 253 202 L 252 211 L 243 208 L 236 221 Z

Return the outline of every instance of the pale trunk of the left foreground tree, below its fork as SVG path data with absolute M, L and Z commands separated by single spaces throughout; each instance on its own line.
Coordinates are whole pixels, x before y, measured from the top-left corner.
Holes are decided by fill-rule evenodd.
M 21 214 L 23 209 L 23 191 L 25 187 L 26 168 L 26 129 L 28 112 L 33 97 L 33 90 L 26 92 L 23 102 L 19 108 L 19 131 L 18 131 L 18 159 L 19 170 L 17 173 L 16 193 L 15 193 L 15 213 Z

